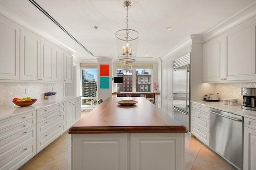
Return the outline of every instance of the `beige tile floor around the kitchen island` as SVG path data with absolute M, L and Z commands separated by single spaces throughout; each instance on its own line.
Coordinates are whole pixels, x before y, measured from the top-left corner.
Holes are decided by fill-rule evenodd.
M 81 117 L 87 113 L 81 112 Z M 70 134 L 65 132 L 19 170 L 70 170 L 70 138 Z M 236 170 L 195 137 L 186 134 L 185 142 L 186 170 Z

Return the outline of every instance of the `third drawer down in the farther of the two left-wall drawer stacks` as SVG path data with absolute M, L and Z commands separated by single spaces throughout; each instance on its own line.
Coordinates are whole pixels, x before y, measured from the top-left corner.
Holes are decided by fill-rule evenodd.
M 50 131 L 52 128 L 56 127 L 56 125 L 64 122 L 64 112 L 55 115 L 41 123 L 36 125 L 36 134 L 37 137 L 40 137 Z

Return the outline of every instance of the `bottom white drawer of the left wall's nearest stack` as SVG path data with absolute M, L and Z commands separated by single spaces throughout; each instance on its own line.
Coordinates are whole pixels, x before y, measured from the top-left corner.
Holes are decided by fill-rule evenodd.
M 0 170 L 17 170 L 36 155 L 36 140 L 0 161 Z

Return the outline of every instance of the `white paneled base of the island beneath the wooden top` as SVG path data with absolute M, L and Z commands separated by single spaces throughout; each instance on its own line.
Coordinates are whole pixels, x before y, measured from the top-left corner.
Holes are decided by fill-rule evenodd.
M 184 133 L 72 134 L 72 170 L 184 170 Z

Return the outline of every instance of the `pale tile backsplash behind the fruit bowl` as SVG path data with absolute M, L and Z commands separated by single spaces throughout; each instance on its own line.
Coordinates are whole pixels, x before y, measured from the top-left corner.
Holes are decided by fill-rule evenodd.
M 57 96 L 63 96 L 63 83 L 16 83 L 0 82 L 0 107 L 14 106 L 13 98 L 31 98 L 44 99 L 45 92 L 57 92 Z M 29 90 L 25 94 L 25 89 Z

